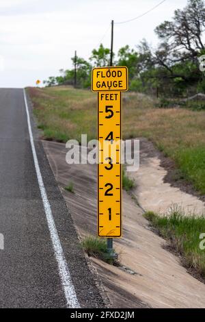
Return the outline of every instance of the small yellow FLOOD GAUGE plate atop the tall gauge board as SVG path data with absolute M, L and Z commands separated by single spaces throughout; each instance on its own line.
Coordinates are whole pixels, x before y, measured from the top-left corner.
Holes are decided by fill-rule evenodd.
M 100 67 L 92 70 L 92 91 L 128 90 L 126 67 Z

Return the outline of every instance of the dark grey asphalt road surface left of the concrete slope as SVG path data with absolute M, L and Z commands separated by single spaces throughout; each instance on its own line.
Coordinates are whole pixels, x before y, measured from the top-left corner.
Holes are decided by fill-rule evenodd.
M 30 115 L 31 108 L 29 107 Z M 33 125 L 34 143 L 71 286 L 82 308 L 103 307 L 74 228 Z M 33 162 L 23 89 L 0 89 L 0 308 L 66 308 Z

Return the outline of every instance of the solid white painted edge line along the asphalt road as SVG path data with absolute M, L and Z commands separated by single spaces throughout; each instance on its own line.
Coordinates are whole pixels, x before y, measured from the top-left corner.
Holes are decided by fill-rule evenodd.
M 33 141 L 33 133 L 32 133 L 32 129 L 31 129 L 31 119 L 30 119 L 30 115 L 29 115 L 29 108 L 28 108 L 28 104 L 27 104 L 27 97 L 26 97 L 25 89 L 23 90 L 23 94 L 24 94 L 24 99 L 25 99 L 25 108 L 26 108 L 26 112 L 27 112 L 27 123 L 28 123 L 28 127 L 29 127 L 29 137 L 30 137 L 30 141 L 31 141 L 33 161 L 34 161 L 35 168 L 36 168 L 36 175 L 38 177 L 38 184 L 39 184 L 40 193 L 42 196 L 42 201 L 43 201 L 43 205 L 44 205 L 44 211 L 46 214 L 47 223 L 49 226 L 49 231 L 51 234 L 53 249 L 55 251 L 55 258 L 56 258 L 57 264 L 58 264 L 59 276 L 61 278 L 61 284 L 64 289 L 68 308 L 80 308 L 80 304 L 77 299 L 77 295 L 75 293 L 74 286 L 72 284 L 72 280 L 70 277 L 68 264 L 67 264 L 66 258 L 64 256 L 64 251 L 61 247 L 61 242 L 60 242 L 59 236 L 57 234 L 57 229 L 55 227 L 55 221 L 53 219 L 51 206 L 50 206 L 47 194 L 46 194 L 46 189 L 44 187 L 44 182 L 43 182 L 42 175 L 40 172 L 40 166 L 39 166 L 38 158 L 36 155 L 36 147 L 35 147 L 34 141 Z

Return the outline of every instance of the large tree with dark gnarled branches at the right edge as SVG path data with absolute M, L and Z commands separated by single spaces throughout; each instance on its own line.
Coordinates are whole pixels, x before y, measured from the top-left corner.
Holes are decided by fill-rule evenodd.
M 159 84 L 182 91 L 202 79 L 198 56 L 204 52 L 205 7 L 202 0 L 189 0 L 183 10 L 176 10 L 172 21 L 156 27 L 160 40 L 153 51 L 146 43 L 139 49 L 141 64 Z M 154 71 L 153 71 L 154 67 Z

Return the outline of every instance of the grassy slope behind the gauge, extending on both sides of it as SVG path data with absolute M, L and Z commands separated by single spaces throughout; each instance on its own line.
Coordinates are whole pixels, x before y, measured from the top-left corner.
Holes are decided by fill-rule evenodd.
M 44 138 L 96 138 L 96 94 L 68 86 L 28 88 Z M 124 138 L 144 136 L 176 162 L 180 177 L 205 194 L 205 111 L 156 108 L 144 95 L 123 94 Z

